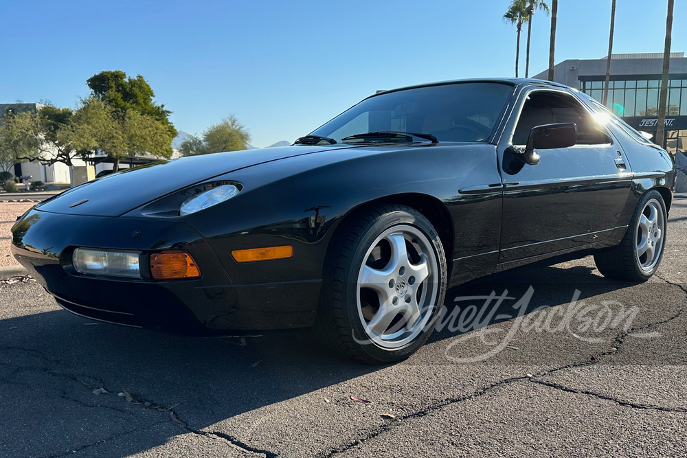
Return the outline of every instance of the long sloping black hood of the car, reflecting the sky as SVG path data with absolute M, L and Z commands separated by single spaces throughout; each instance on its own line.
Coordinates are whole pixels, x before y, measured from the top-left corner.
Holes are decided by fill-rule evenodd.
M 120 216 L 150 201 L 214 176 L 261 163 L 350 146 L 284 146 L 218 152 L 144 165 L 80 185 L 36 208 L 53 213 Z

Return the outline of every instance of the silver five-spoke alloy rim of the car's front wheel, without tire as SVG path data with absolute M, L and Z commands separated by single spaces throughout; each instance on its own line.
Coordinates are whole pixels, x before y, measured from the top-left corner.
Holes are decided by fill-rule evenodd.
M 358 316 L 370 340 L 398 350 L 422 334 L 436 307 L 438 263 L 433 244 L 409 225 L 383 231 L 358 273 Z

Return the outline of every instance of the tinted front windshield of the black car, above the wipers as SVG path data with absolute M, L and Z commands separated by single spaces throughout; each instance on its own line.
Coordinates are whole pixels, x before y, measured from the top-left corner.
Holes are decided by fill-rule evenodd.
M 464 82 L 375 95 L 335 117 L 312 135 L 337 142 L 373 132 L 424 133 L 438 141 L 486 141 L 513 86 Z

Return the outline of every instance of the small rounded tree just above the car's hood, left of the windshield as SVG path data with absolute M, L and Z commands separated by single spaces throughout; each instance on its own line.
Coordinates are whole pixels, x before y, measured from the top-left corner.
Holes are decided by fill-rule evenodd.
M 234 115 L 229 115 L 218 124 L 212 124 L 203 132 L 203 139 L 191 135 L 179 145 L 184 156 L 210 154 L 212 152 L 238 151 L 247 149 L 251 135 L 247 128 L 238 122 Z

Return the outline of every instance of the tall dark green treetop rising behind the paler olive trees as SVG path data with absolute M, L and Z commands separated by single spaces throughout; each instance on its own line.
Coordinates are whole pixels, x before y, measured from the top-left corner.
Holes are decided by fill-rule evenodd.
M 101 100 L 112 108 L 113 115 L 120 117 L 122 126 L 126 123 L 133 123 L 133 119 L 135 119 L 136 124 L 142 125 L 141 118 L 130 115 L 133 112 L 159 122 L 167 130 L 168 137 L 170 137 L 170 144 L 166 146 L 168 153 L 162 155 L 170 157 L 172 139 L 177 136 L 177 129 L 174 128 L 174 124 L 169 119 L 172 112 L 167 110 L 164 104 L 157 104 L 153 101 L 155 93 L 143 76 L 137 75 L 136 78 L 127 78 L 126 73 L 121 70 L 101 71 L 91 76 L 86 82 L 92 91 L 93 98 Z M 125 120 L 126 115 L 131 117 L 128 122 Z M 148 127 L 146 126 L 146 128 Z M 152 151 L 149 152 L 153 153 Z

